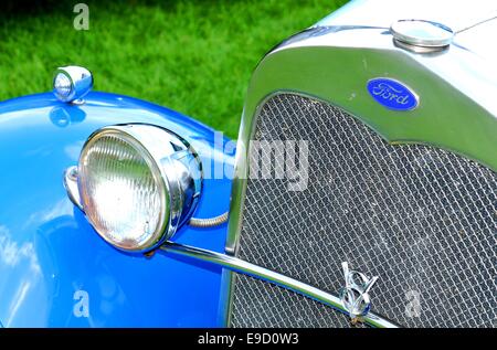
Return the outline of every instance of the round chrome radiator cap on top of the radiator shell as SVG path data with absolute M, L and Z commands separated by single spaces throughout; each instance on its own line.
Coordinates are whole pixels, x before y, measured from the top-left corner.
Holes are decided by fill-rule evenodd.
M 454 32 L 448 26 L 425 20 L 399 20 L 392 23 L 390 32 L 395 44 L 403 49 L 427 49 L 437 51 L 447 47 L 454 39 Z

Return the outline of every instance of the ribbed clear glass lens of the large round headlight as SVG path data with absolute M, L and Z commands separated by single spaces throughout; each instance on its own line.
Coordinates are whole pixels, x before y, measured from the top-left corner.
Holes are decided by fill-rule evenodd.
M 159 238 L 168 191 L 134 139 L 113 130 L 93 138 L 81 155 L 80 191 L 86 215 L 107 242 L 129 250 Z

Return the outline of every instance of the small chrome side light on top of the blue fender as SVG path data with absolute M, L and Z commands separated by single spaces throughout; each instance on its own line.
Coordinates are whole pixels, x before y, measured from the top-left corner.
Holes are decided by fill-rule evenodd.
M 82 103 L 93 87 L 93 75 L 85 67 L 68 65 L 59 67 L 53 77 L 53 94 L 65 103 Z

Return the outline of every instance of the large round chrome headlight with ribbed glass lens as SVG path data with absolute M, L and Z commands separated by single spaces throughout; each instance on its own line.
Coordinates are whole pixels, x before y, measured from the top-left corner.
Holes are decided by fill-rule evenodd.
M 83 147 L 77 172 L 89 222 L 125 251 L 150 251 L 170 238 L 200 195 L 197 153 L 177 135 L 150 125 L 96 131 Z

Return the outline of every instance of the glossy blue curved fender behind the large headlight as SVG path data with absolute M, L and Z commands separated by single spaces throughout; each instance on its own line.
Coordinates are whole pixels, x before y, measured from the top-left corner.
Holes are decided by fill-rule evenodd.
M 228 284 L 219 266 L 157 253 L 147 258 L 105 243 L 73 205 L 63 171 L 85 139 L 123 123 L 166 127 L 190 141 L 204 170 L 233 153 L 216 134 L 170 109 L 130 97 L 89 93 L 73 106 L 52 94 L 0 103 L 0 321 L 4 327 L 221 327 Z M 218 137 L 219 138 L 219 137 Z M 222 145 L 229 142 L 221 137 Z M 221 168 L 222 169 L 222 168 Z M 218 171 L 219 172 L 219 171 Z M 210 177 L 212 178 L 212 177 Z M 197 218 L 229 209 L 231 180 L 205 179 Z M 224 251 L 226 225 L 184 226 L 175 241 Z M 86 303 L 87 315 L 81 312 Z

